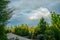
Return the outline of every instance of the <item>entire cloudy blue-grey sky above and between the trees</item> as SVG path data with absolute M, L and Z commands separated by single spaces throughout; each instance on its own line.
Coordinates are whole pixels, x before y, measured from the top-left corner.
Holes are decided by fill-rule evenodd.
M 7 26 L 28 24 L 36 26 L 41 17 L 50 22 L 50 12 L 60 13 L 60 0 L 10 0 L 8 8 L 14 8 Z

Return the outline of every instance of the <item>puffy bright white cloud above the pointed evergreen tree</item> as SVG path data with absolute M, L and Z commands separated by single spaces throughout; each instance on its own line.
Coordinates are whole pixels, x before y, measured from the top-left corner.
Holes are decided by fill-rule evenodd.
M 28 18 L 33 20 L 33 19 L 39 19 L 41 17 L 48 18 L 50 17 L 50 12 L 47 8 L 40 7 L 37 10 L 34 10 L 32 14 L 28 15 Z

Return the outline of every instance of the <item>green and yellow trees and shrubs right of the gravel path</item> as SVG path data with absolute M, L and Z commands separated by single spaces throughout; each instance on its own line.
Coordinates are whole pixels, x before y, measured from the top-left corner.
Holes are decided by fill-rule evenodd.
M 27 24 L 21 26 L 14 26 L 8 29 L 12 33 L 20 36 L 28 36 L 30 39 L 37 40 L 60 40 L 60 14 L 51 12 L 51 24 L 49 25 L 44 18 L 40 19 L 37 27 L 29 27 Z M 9 32 L 10 32 L 9 31 Z

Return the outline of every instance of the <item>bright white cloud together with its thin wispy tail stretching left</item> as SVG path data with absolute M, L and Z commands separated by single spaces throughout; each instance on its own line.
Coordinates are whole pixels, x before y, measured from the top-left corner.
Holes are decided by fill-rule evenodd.
M 50 12 L 47 8 L 44 7 L 40 7 L 37 10 L 33 10 L 33 11 L 22 11 L 19 14 L 14 14 L 12 16 L 13 19 L 16 19 L 18 17 L 25 16 L 27 19 L 31 19 L 31 20 L 36 20 L 39 19 L 41 17 L 47 18 L 48 16 L 50 16 Z

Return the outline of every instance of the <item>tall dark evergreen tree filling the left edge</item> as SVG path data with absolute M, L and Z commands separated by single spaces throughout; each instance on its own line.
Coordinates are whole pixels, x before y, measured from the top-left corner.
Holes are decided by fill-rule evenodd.
M 8 3 L 8 0 L 0 0 L 0 40 L 7 40 L 4 27 L 12 15 L 12 10 L 7 9 Z

